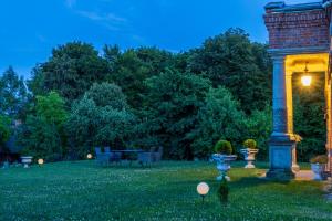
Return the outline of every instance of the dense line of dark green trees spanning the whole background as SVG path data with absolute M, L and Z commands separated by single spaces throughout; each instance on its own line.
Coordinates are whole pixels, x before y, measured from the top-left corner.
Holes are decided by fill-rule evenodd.
M 100 54 L 71 42 L 55 48 L 27 82 L 10 67 L 0 99 L 2 146 L 10 122 L 21 119 L 18 144 L 48 160 L 82 158 L 95 146 L 157 145 L 167 158 L 206 159 L 220 138 L 238 148 L 255 138 L 266 158 L 271 60 L 266 44 L 239 29 L 181 53 L 105 45 Z

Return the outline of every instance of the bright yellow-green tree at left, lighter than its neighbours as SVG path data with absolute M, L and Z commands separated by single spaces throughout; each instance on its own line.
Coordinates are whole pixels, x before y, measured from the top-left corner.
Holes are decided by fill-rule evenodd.
M 33 113 L 19 129 L 18 144 L 23 147 L 23 152 L 48 161 L 63 159 L 68 154 L 63 128 L 68 118 L 64 98 L 56 92 L 39 95 Z

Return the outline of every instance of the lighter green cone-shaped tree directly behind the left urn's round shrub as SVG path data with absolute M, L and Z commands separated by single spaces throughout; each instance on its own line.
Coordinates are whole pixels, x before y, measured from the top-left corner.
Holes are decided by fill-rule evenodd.
M 198 124 L 190 137 L 195 156 L 206 158 L 221 138 L 240 145 L 245 136 L 245 114 L 225 87 L 210 88 L 198 113 Z

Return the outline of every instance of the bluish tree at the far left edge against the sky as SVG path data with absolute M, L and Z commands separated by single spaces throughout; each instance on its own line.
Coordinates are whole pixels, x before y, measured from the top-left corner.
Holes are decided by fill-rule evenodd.
M 23 77 L 19 77 L 10 66 L 0 78 L 0 114 L 11 118 L 23 115 L 28 92 Z

